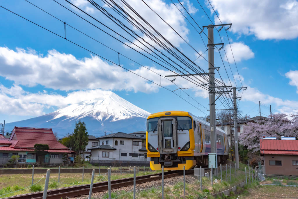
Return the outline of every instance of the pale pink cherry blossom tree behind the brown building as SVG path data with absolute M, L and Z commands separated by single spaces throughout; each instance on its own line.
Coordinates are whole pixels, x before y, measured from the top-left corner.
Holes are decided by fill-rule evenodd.
M 272 117 L 272 118 L 271 118 Z M 260 139 L 263 136 L 281 136 L 298 138 L 298 114 L 288 116 L 283 113 L 270 115 L 268 119 L 248 122 L 239 135 L 240 143 L 252 152 L 260 150 Z

